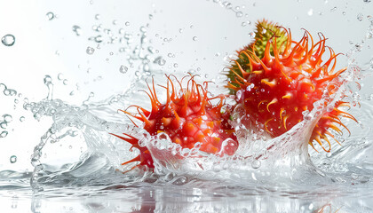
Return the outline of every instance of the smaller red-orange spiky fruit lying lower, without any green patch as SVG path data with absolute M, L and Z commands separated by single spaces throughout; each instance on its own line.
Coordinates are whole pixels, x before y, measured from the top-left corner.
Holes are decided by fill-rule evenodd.
M 175 77 L 176 78 L 176 77 Z M 139 114 L 130 114 L 142 122 L 141 127 L 147 130 L 150 135 L 155 136 L 158 133 L 167 134 L 173 143 L 179 144 L 183 148 L 193 148 L 195 143 L 200 142 L 200 151 L 217 154 L 221 151 L 222 142 L 227 138 L 227 145 L 221 154 L 232 155 L 238 147 L 238 142 L 234 136 L 234 130 L 228 124 L 229 114 L 222 112 L 226 97 L 220 95 L 217 97 L 208 97 L 207 84 L 204 86 L 194 81 L 191 76 L 187 81 L 187 88 L 182 87 L 182 82 L 178 82 L 179 93 L 175 89 L 175 84 L 171 77 L 167 76 L 167 100 L 161 104 L 157 98 L 155 85 L 150 89 L 147 95 L 151 100 L 152 109 L 147 111 L 143 107 L 137 107 Z M 185 78 L 183 78 L 185 79 Z M 219 99 L 217 105 L 213 105 L 211 100 Z M 132 147 L 139 148 L 140 154 L 129 162 L 139 162 L 139 165 L 147 165 L 154 168 L 153 159 L 146 147 L 138 145 L 138 139 L 128 134 L 126 137 L 117 136 L 132 144 Z M 123 164 L 129 163 L 124 162 Z

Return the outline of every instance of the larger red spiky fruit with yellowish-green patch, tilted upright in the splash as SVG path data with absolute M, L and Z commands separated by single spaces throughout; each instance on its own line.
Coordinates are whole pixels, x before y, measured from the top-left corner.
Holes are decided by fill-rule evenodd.
M 228 85 L 250 116 L 250 123 L 261 125 L 272 137 L 282 135 L 301 122 L 304 117 L 302 113 L 311 111 L 313 103 L 321 100 L 324 92 L 329 95 L 335 93 L 341 85 L 337 77 L 346 69 L 335 72 L 338 54 L 325 46 L 326 38 L 322 34 L 319 34 L 320 40 L 313 43 L 313 37 L 306 31 L 297 42 L 291 40 L 290 30 L 276 28 L 284 30 L 286 34 L 268 39 L 264 43 L 263 57 L 258 57 L 255 44 L 238 52 L 239 59 L 234 61 L 230 69 L 235 78 Z M 283 36 L 287 38 L 286 42 L 283 42 Z M 280 45 L 278 40 L 282 41 Z M 329 50 L 329 59 L 323 62 L 326 50 Z M 326 106 L 328 103 L 322 104 Z M 311 146 L 314 140 L 329 152 L 330 143 L 326 135 L 334 138 L 329 129 L 342 133 L 335 123 L 345 127 L 339 116 L 356 121 L 351 114 L 338 109 L 346 105 L 337 101 L 333 110 L 322 114 L 309 140 Z M 321 139 L 329 144 L 329 148 L 323 146 Z

